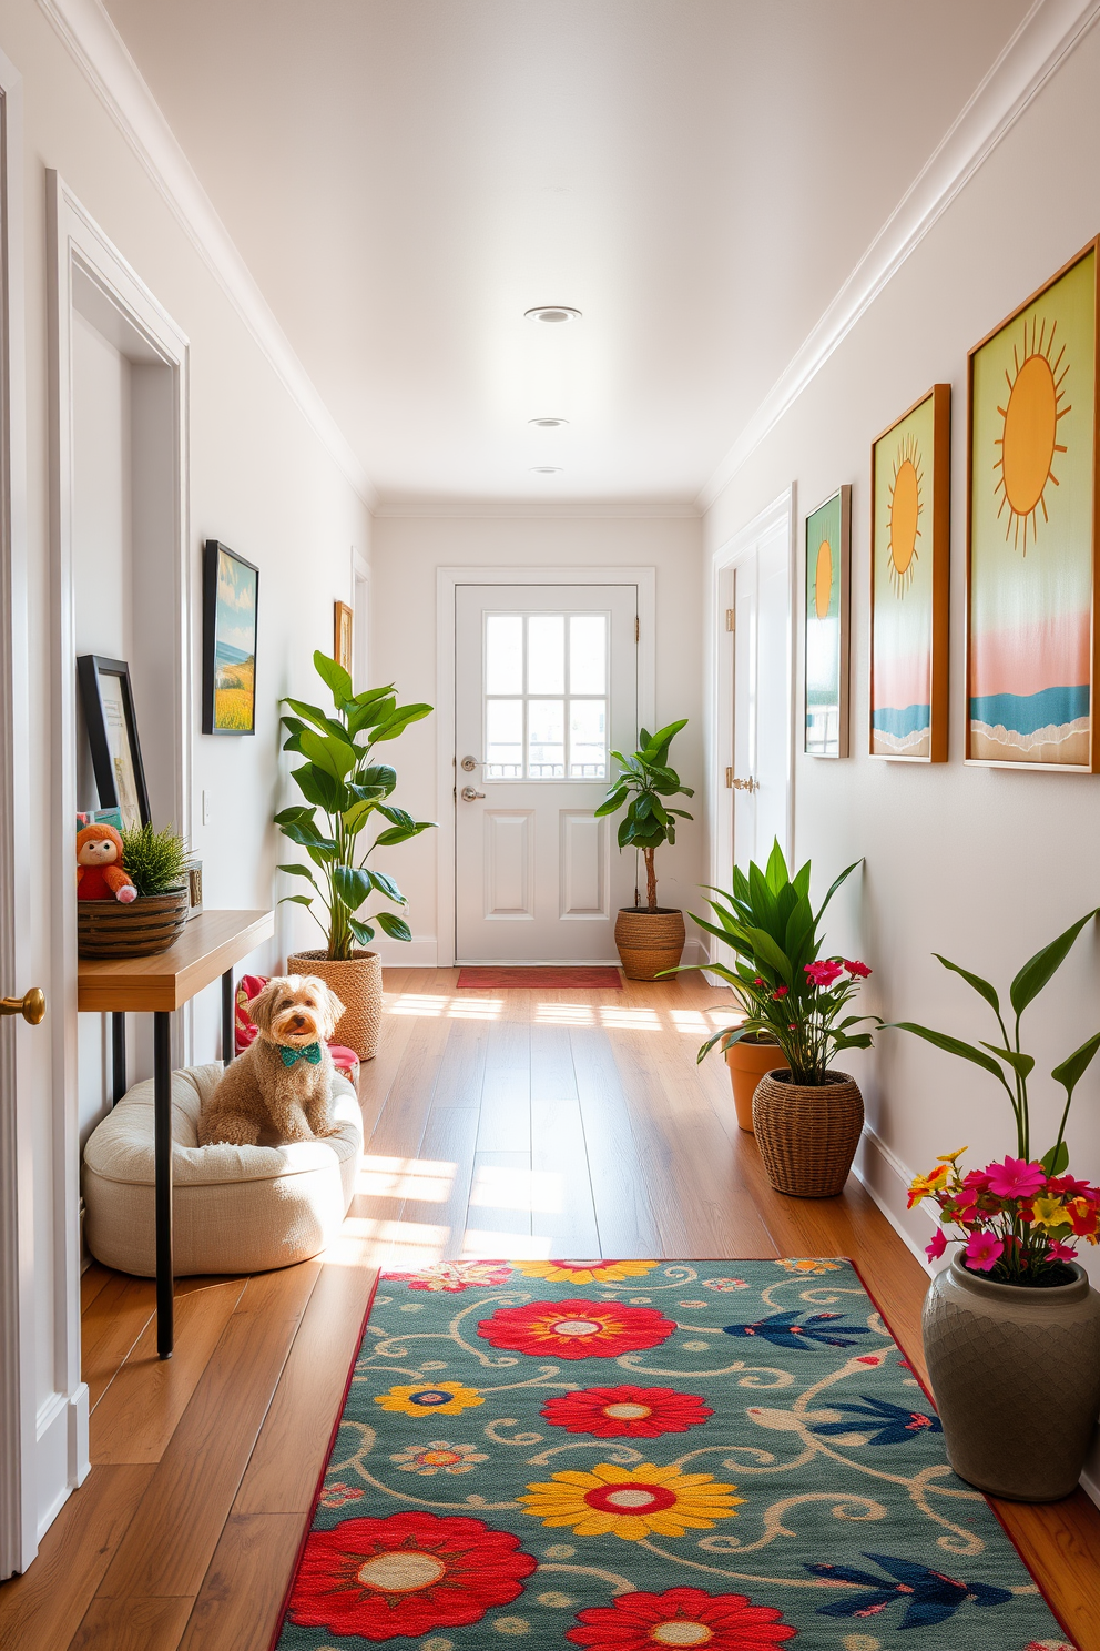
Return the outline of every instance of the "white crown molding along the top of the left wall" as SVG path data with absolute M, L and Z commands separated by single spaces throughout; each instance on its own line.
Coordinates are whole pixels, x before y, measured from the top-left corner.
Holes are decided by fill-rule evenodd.
M 275 376 L 368 510 L 374 487 L 295 355 L 99 0 L 38 0 Z M 1100 3 L 1100 0 L 1098 0 Z

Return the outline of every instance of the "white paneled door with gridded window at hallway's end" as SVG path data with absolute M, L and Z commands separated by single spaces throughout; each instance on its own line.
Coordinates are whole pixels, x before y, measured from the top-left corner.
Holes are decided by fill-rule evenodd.
M 613 963 L 633 855 L 597 821 L 637 735 L 635 584 L 455 593 L 455 956 Z

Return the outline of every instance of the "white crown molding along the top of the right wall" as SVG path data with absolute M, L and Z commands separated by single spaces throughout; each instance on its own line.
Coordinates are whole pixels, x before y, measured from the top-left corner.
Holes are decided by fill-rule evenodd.
M 767 393 L 699 490 L 709 510 L 764 438 L 874 304 L 909 254 L 1013 129 L 1036 92 L 1100 17 L 1100 0 L 1034 0 L 970 102 L 932 152 L 839 289 L 821 320 Z

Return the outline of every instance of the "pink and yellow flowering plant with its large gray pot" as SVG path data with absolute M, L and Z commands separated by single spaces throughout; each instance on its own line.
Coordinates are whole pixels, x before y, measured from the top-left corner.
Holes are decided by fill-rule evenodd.
M 948 1232 L 965 1245 L 932 1281 L 924 1308 L 925 1360 L 947 1453 L 963 1479 L 1013 1501 L 1070 1494 L 1100 1412 L 1100 1294 L 1074 1258 L 1082 1238 L 1097 1243 L 1100 1189 L 1069 1174 L 1065 1144 L 1074 1090 L 1100 1048 L 1100 1032 L 1051 1071 L 1065 1101 L 1054 1146 L 1041 1157 L 1032 1154 L 1027 1095 L 1036 1062 L 1019 1037 L 1024 1009 L 1095 915 L 1085 913 L 1022 966 L 1009 987 L 1011 1037 L 996 989 L 947 958 L 938 959 L 943 967 L 990 1005 L 998 1040 L 973 1045 L 897 1022 L 988 1073 L 1016 1121 L 1016 1157 L 963 1176 L 960 1147 L 909 1190 L 910 1207 L 925 1197 L 938 1205 L 932 1260 L 947 1251 Z

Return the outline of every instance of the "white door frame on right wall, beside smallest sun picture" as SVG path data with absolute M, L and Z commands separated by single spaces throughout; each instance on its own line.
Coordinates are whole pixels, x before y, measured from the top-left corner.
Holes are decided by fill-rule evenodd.
M 709 882 L 716 888 L 729 883 L 729 844 L 734 835 L 734 792 L 726 784 L 726 764 L 734 755 L 734 634 L 726 629 L 726 609 L 734 606 L 734 578 L 737 565 L 755 550 L 765 533 L 787 525 L 790 571 L 790 627 L 787 632 L 787 721 L 790 726 L 790 774 L 787 783 L 787 852 L 795 845 L 795 484 L 792 482 L 770 505 L 765 505 L 732 538 L 727 538 L 711 561 L 711 624 L 709 624 L 709 726 L 706 741 L 707 769 L 707 835 Z M 711 939 L 711 961 L 729 963 L 726 948 Z

